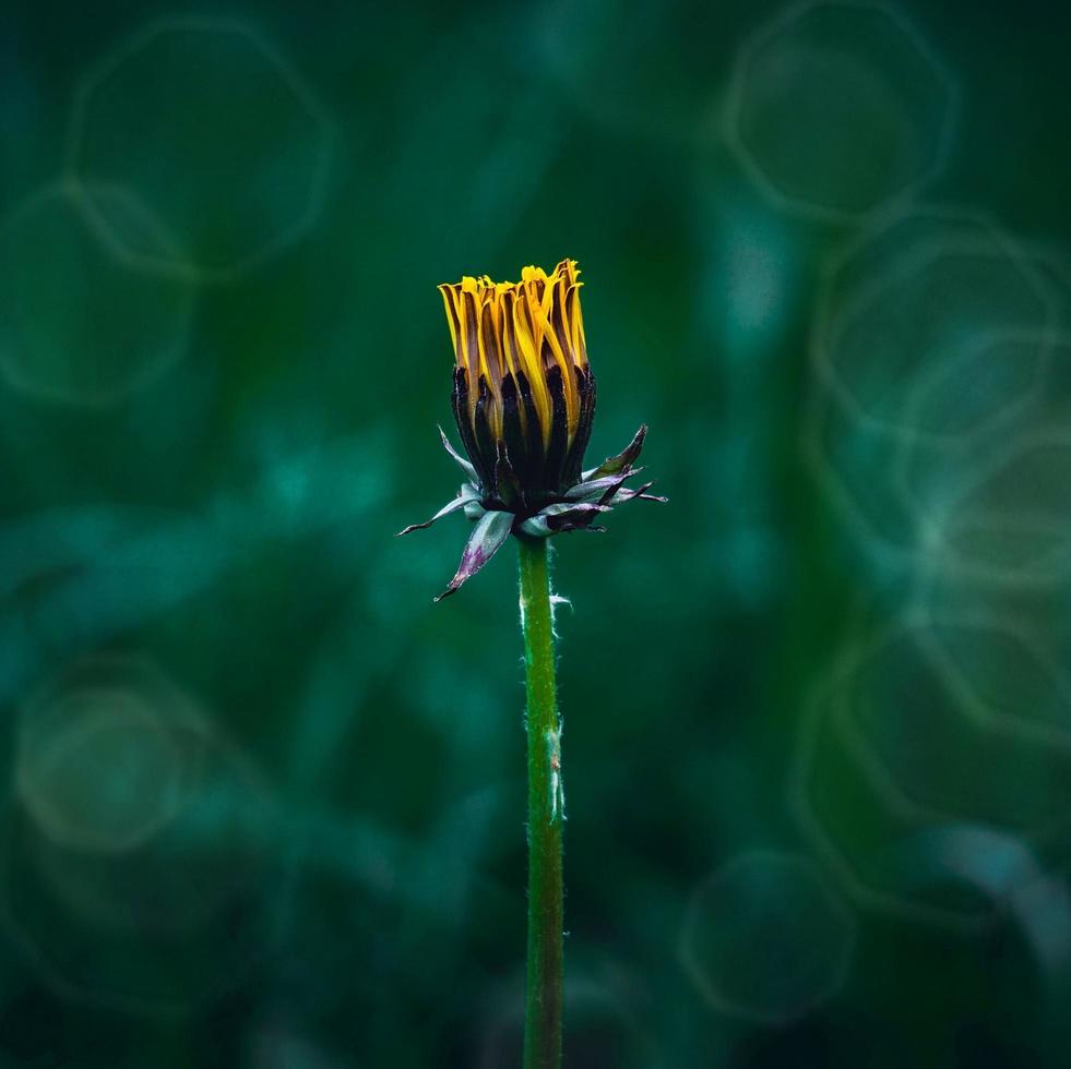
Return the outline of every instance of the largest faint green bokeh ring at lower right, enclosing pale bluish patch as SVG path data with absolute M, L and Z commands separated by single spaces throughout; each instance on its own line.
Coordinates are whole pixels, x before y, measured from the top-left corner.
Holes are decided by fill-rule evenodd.
M 1069 783 L 1066 672 L 999 614 L 947 614 L 845 652 L 790 796 L 853 901 L 977 930 L 1066 857 Z

